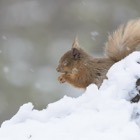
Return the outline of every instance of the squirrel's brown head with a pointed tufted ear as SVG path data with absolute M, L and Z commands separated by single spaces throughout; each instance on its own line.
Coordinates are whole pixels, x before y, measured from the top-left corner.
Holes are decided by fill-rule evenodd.
M 76 73 L 89 55 L 80 48 L 78 39 L 75 38 L 71 50 L 67 51 L 59 61 L 57 71 L 61 73 Z

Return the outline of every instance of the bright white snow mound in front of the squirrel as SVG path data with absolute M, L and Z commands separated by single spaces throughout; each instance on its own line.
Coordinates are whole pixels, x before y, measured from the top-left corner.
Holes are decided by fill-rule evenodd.
M 138 91 L 140 52 L 114 64 L 100 89 L 92 84 L 80 97 L 65 96 L 44 110 L 24 104 L 0 128 L 0 140 L 140 140 Z

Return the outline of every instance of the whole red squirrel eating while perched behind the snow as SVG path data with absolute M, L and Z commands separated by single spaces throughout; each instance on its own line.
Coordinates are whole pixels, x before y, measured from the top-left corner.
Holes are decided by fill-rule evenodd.
M 104 58 L 93 58 L 79 47 L 77 38 L 72 49 L 60 59 L 57 71 L 61 83 L 68 82 L 78 88 L 86 88 L 95 83 L 98 87 L 106 78 L 109 68 L 117 61 L 133 52 L 140 44 L 140 20 L 133 20 L 120 26 L 109 36 L 105 45 Z

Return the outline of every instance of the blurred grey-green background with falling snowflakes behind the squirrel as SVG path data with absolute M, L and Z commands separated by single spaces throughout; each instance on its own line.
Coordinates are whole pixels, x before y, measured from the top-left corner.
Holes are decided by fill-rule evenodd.
M 24 103 L 44 109 L 81 95 L 57 81 L 61 55 L 77 35 L 101 56 L 108 33 L 139 13 L 139 0 L 0 0 L 0 123 Z

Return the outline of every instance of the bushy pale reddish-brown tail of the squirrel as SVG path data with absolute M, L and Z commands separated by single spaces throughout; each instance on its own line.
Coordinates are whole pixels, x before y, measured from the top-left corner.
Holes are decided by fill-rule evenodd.
M 106 55 L 116 62 L 135 51 L 140 45 L 140 19 L 120 26 L 105 45 Z

